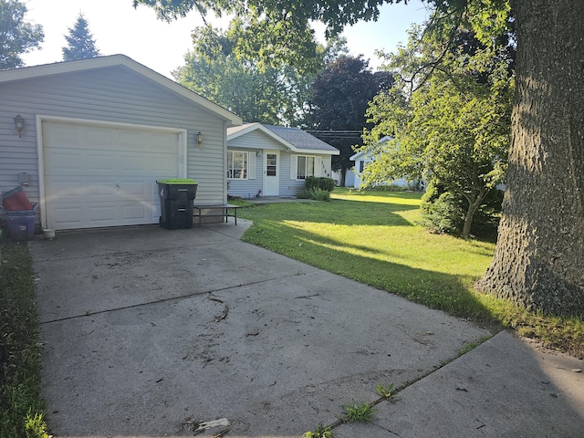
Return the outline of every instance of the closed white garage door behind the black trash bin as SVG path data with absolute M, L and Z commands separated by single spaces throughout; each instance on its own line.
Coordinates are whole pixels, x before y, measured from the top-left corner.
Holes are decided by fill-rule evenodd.
M 183 176 L 179 133 L 43 121 L 47 227 L 157 224 L 156 180 Z

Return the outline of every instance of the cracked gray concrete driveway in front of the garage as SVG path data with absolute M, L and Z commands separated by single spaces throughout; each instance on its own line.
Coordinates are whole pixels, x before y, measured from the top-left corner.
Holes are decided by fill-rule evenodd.
M 581 374 L 552 381 L 537 352 L 505 333 L 454 360 L 488 333 L 245 244 L 246 226 L 144 226 L 31 243 L 53 433 L 299 437 L 335 422 L 343 405 L 379 399 L 379 383 L 406 389 L 377 405 L 374 422 L 343 424 L 336 437 L 528 436 L 521 432 L 541 431 L 541 412 L 553 416 L 552 430 L 567 422 L 579 428 L 568 432 L 584 430 L 584 390 L 567 397 L 562 387 L 582 383 Z M 517 370 L 509 360 L 525 361 L 513 386 L 503 374 Z M 525 371 L 526 393 L 516 388 Z M 500 421 L 499 402 L 525 408 L 536 397 L 537 412 Z M 214 427 L 195 432 L 204 426 Z

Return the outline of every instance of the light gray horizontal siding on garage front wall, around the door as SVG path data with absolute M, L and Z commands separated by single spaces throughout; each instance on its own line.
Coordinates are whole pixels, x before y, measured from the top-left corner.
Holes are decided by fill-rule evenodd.
M 187 130 L 187 177 L 199 182 L 197 202 L 224 203 L 225 126 L 213 113 L 127 68 L 101 68 L 0 85 L 0 191 L 31 174 L 25 193 L 39 199 L 36 116 L 56 116 Z M 26 122 L 18 138 L 13 118 Z M 201 150 L 194 136 L 203 132 Z M 178 175 L 177 175 L 178 176 Z

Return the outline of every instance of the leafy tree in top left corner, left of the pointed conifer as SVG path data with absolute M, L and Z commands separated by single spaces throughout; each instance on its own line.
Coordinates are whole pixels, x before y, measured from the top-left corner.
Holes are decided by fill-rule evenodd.
M 43 27 L 26 23 L 26 4 L 18 0 L 0 0 L 0 68 L 23 67 L 20 55 L 40 47 Z

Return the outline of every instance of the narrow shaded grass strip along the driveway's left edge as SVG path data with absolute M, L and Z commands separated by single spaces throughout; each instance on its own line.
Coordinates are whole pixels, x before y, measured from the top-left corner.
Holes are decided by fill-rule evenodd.
M 0 263 L 0 438 L 47 438 L 32 261 L 25 245 L 3 245 Z

